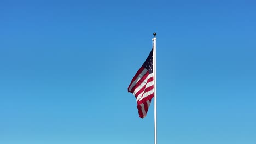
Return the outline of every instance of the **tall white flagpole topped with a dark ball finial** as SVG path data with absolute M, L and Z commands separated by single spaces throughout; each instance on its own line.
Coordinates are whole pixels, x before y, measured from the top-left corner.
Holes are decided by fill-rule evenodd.
M 155 123 L 155 144 L 156 144 L 156 33 L 153 33 L 153 72 L 154 72 L 154 123 Z

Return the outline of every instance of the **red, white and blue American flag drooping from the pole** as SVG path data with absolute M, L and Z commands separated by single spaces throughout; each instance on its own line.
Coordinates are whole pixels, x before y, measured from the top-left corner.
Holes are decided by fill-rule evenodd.
M 135 95 L 139 117 L 147 115 L 151 99 L 154 97 L 154 77 L 153 77 L 153 49 L 142 67 L 133 77 L 128 92 Z

